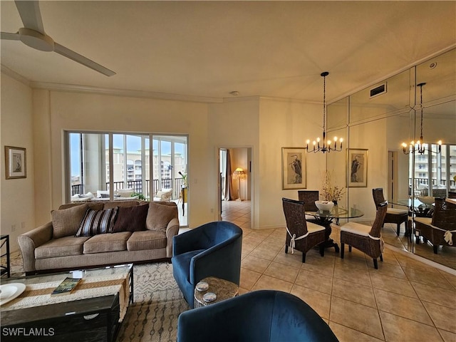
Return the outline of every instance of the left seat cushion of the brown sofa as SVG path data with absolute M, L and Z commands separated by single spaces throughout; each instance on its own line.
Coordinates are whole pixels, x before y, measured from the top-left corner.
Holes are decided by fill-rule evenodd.
M 54 257 L 68 257 L 72 255 L 81 255 L 83 253 L 83 244 L 90 237 L 61 237 L 51 239 L 35 249 L 36 259 L 46 259 Z

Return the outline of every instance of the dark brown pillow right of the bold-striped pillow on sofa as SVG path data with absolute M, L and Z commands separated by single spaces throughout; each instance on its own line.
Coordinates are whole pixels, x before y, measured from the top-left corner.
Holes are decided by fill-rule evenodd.
M 147 204 L 136 207 L 119 207 L 117 219 L 111 233 L 138 232 L 145 230 L 145 219 L 147 218 Z

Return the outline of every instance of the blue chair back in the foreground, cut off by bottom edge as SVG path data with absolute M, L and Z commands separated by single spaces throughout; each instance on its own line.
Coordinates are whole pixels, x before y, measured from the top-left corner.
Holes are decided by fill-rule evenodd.
M 282 291 L 260 290 L 184 311 L 177 342 L 336 342 L 328 324 L 304 301 Z

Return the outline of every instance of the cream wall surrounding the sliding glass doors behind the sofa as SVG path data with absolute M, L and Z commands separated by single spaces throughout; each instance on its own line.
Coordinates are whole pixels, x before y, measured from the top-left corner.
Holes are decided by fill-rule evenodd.
M 145 132 L 189 135 L 189 224 L 195 227 L 212 219 L 212 187 L 207 170 L 214 155 L 207 139 L 207 105 L 113 95 L 34 90 L 36 142 L 43 141 L 36 159 L 44 162 L 36 170 L 37 180 L 48 187 L 49 201 L 39 205 L 40 221 L 51 218 L 51 209 L 64 202 L 64 130 Z M 38 196 L 38 194 L 36 194 Z

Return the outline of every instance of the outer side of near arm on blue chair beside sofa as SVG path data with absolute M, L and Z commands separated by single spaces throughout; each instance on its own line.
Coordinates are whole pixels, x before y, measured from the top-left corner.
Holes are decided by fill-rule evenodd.
M 190 261 L 190 283 L 215 276 L 239 285 L 241 252 L 242 235 L 239 235 L 195 255 Z

